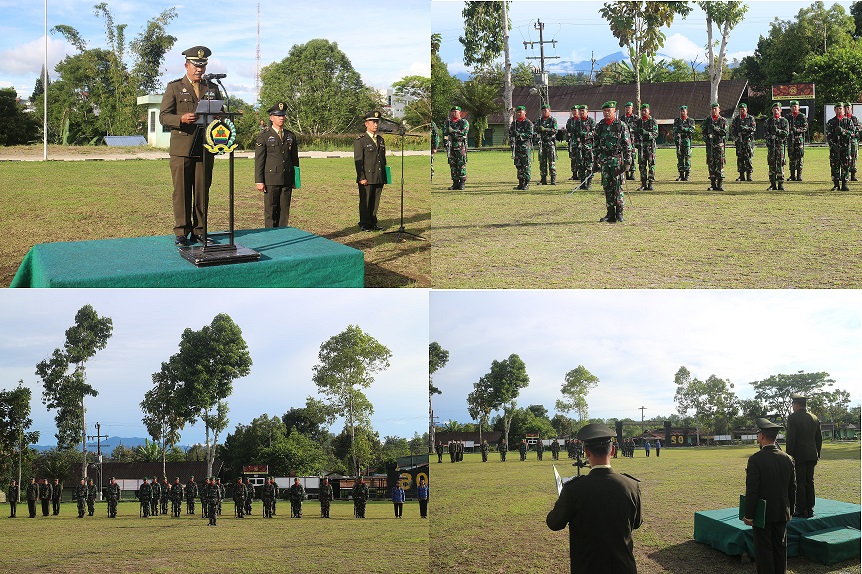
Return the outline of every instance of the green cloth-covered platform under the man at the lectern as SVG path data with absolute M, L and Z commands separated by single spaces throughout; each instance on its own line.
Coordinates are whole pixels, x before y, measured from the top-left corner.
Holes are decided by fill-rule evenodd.
M 218 238 L 226 243 L 226 238 Z M 40 243 L 10 287 L 363 287 L 362 251 L 294 227 L 237 231 L 258 261 L 196 267 L 173 236 Z

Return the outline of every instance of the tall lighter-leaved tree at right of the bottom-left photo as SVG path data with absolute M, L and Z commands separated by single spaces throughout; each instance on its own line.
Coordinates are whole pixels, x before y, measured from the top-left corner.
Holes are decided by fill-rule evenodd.
M 317 354 L 320 363 L 312 369 L 312 380 L 325 397 L 330 417 L 334 413 L 343 413 L 351 439 L 355 438 L 357 427 L 371 428 L 370 417 L 374 407 L 362 389 L 371 386 L 375 373 L 389 368 L 391 357 L 388 348 L 356 325 L 349 325 L 320 346 Z M 352 468 L 358 473 L 360 449 L 364 446 L 356 442 L 351 448 Z

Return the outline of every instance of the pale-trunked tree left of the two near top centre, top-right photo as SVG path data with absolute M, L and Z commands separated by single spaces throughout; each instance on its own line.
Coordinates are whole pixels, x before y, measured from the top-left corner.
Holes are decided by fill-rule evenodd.
M 665 35 L 661 28 L 669 27 L 677 15 L 685 18 L 690 12 L 691 6 L 687 2 L 646 0 L 605 2 L 599 10 L 608 21 L 611 33 L 619 40 L 620 47 L 629 50 L 635 71 L 636 109 L 641 104 L 641 56 L 654 56 L 664 45 Z

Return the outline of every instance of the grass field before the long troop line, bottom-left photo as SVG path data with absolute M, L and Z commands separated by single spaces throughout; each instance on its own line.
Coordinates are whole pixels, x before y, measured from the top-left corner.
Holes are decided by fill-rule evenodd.
M 3 505 L 8 511 L 8 505 Z M 404 505 L 396 520 L 392 504 L 369 503 L 366 518 L 353 517 L 353 503 L 334 502 L 331 518 L 319 518 L 316 500 L 303 504 L 303 518 L 290 518 L 290 503 L 280 501 L 275 518 L 233 517 L 226 501 L 215 528 L 198 515 L 138 518 L 136 503 L 122 503 L 115 519 L 106 503 L 95 516 L 78 519 L 74 503 L 60 516 L 29 519 L 27 504 L 18 518 L 0 518 L 0 572 L 90 574 L 138 572 L 428 572 L 428 520 L 417 502 Z M 185 513 L 185 508 L 183 508 Z

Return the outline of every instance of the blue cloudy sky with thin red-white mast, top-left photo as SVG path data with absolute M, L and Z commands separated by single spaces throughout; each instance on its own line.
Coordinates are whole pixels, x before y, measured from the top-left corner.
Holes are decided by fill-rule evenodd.
M 59 24 L 80 32 L 90 48 L 107 46 L 102 19 L 94 15 L 96 0 L 47 0 L 48 30 Z M 227 73 L 222 80 L 232 96 L 255 101 L 257 2 L 210 0 L 177 3 L 171 0 L 108 0 L 114 23 L 127 24 L 130 42 L 146 22 L 176 7 L 167 32 L 177 38 L 167 54 L 163 83 L 184 73 L 182 52 L 206 45 L 213 50 L 209 73 Z M 0 12 L 14 18 L 0 22 L 0 87 L 12 86 L 21 97 L 33 93 L 45 58 L 45 2 L 0 0 Z M 362 80 L 388 88 L 406 75 L 431 73 L 428 0 L 381 0 L 365 6 L 349 0 L 277 2 L 260 0 L 261 67 L 281 61 L 296 44 L 314 38 L 337 42 Z M 62 36 L 48 34 L 48 67 L 75 53 Z

